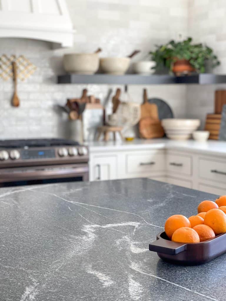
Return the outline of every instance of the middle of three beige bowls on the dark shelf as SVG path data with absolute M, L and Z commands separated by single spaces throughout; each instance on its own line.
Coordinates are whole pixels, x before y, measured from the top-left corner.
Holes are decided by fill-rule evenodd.
M 113 75 L 123 75 L 130 66 L 129 57 L 102 57 L 100 58 L 100 68 L 104 73 Z

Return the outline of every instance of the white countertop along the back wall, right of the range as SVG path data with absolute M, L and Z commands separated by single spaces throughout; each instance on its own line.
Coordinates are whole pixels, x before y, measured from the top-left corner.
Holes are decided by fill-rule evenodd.
M 226 156 L 226 141 L 209 140 L 206 142 L 198 142 L 194 140 L 177 141 L 167 138 L 159 139 L 135 139 L 133 141 L 93 141 L 88 142 L 91 153 L 104 151 L 123 151 L 129 149 L 174 149 L 178 151 L 190 151 L 193 153 L 216 154 Z

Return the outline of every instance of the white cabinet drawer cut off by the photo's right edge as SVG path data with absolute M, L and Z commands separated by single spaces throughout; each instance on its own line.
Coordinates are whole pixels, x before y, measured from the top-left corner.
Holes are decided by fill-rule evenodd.
M 199 159 L 200 178 L 226 183 L 226 160 Z

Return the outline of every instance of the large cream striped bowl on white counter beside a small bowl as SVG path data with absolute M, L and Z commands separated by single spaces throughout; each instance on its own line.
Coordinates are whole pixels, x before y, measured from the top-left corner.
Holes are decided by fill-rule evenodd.
M 162 126 L 168 138 L 174 140 L 187 140 L 200 126 L 199 119 L 162 119 Z

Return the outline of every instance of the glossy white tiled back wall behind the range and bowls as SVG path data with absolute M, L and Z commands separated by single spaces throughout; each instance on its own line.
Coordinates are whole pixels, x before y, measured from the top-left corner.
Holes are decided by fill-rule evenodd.
M 66 98 L 78 97 L 83 88 L 102 101 L 108 85 L 57 85 L 56 75 L 63 73 L 62 54 L 89 52 L 101 47 L 101 56 L 128 55 L 134 49 L 142 52 L 135 60 L 145 57 L 155 44 L 187 33 L 187 0 L 67 0 L 71 19 L 77 32 L 74 49 L 51 50 L 48 42 L 26 39 L 1 39 L 1 54 L 23 54 L 37 66 L 25 82 L 19 82 L 20 107 L 11 107 L 11 80 L 0 79 L 0 138 L 62 136 L 67 132 L 67 116 L 56 104 Z M 123 88 L 123 87 L 122 87 Z M 134 101 L 141 102 L 143 86 L 129 86 Z M 176 117 L 186 114 L 186 86 L 148 86 L 150 97 L 167 101 Z M 92 122 L 98 123 L 99 117 Z

